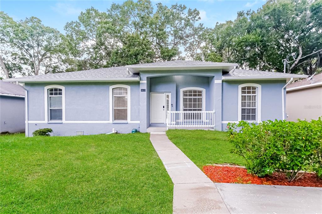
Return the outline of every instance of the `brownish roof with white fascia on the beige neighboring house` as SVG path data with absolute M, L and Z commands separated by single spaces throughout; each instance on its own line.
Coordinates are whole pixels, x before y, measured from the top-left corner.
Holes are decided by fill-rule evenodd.
M 293 82 L 286 87 L 286 91 L 294 91 L 316 86 L 322 86 L 322 73 Z

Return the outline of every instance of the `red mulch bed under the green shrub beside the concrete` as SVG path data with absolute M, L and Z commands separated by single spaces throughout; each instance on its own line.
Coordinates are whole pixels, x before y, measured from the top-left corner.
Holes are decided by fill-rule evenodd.
M 311 186 L 322 187 L 322 179 L 315 174 L 306 173 L 296 181 L 288 182 L 284 174 L 273 173 L 272 176 L 259 178 L 247 174 L 247 169 L 232 166 L 204 166 L 204 173 L 215 183 L 248 183 L 283 186 Z

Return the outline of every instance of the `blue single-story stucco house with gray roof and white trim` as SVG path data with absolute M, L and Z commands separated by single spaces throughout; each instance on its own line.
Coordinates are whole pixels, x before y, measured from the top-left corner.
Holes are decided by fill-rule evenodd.
M 175 60 L 5 81 L 25 84 L 26 136 L 39 128 L 66 136 L 284 119 L 287 82 L 307 77 L 235 66 Z

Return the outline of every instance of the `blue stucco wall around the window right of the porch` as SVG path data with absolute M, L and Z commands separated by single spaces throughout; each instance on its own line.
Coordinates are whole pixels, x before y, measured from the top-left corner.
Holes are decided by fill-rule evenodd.
M 282 88 L 285 80 L 275 81 L 223 81 L 222 89 L 222 120 L 238 120 L 238 85 L 256 83 L 261 85 L 261 121 L 282 119 Z M 285 92 L 284 92 L 285 93 Z M 223 123 L 223 130 L 227 123 Z

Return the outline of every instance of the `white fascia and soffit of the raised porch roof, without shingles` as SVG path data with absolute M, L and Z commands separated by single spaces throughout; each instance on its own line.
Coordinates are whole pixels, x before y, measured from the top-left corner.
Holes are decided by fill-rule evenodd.
M 142 65 L 128 65 L 125 66 L 133 74 L 140 73 L 140 71 L 160 71 L 160 70 L 205 70 L 205 69 L 222 69 L 223 71 L 230 71 L 236 63 L 221 63 L 220 65 L 165 65 L 165 66 L 145 66 Z

